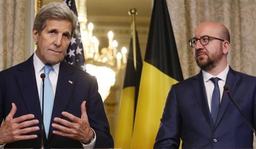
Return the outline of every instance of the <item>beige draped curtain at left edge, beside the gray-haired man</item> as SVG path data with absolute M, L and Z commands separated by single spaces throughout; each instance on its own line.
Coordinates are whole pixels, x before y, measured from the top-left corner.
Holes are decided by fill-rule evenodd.
M 0 71 L 25 60 L 26 0 L 0 0 Z

